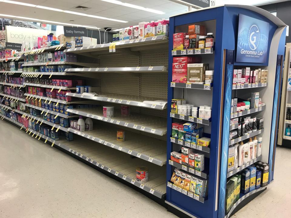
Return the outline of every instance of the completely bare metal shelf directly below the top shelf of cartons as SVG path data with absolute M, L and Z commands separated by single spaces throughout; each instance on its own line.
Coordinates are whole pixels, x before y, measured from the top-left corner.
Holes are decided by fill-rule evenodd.
M 165 66 L 148 67 L 116 67 L 116 68 L 66 68 L 65 72 L 131 72 L 131 73 L 156 73 L 167 72 Z

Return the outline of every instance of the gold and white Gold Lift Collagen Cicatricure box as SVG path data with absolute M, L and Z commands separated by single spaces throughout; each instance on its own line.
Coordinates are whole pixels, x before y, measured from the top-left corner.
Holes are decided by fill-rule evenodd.
M 205 71 L 209 64 L 187 64 L 187 82 L 203 84 L 205 82 Z

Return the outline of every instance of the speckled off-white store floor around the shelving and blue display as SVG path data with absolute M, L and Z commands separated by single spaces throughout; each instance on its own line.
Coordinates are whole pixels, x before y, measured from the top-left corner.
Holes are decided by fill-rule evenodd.
M 6 121 L 0 122 L 0 136 L 1 218 L 176 217 Z M 275 181 L 233 217 L 290 217 L 290 157 L 291 149 L 277 148 Z

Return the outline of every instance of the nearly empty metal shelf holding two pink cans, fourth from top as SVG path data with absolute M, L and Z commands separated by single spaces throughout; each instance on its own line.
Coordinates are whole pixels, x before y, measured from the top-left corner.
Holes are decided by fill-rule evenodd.
M 128 127 L 156 135 L 164 135 L 167 133 L 166 119 L 157 118 L 150 115 L 131 113 L 129 116 L 122 116 L 115 112 L 114 117 L 103 117 L 102 108 L 88 108 L 88 109 L 67 109 L 67 112 L 79 114 L 85 117 L 91 117 L 96 120 L 116 124 L 123 127 Z

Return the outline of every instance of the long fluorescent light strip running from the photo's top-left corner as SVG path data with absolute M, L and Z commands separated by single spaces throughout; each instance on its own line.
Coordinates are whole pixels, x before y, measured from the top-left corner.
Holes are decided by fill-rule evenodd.
M 112 1 L 114 1 L 114 0 L 112 0 Z M 69 14 L 74 14 L 74 15 L 85 16 L 85 17 L 92 17 L 92 18 L 103 19 L 103 20 L 116 21 L 116 22 L 121 22 L 121 23 L 128 23 L 128 21 L 117 20 L 117 19 L 113 19 L 113 18 L 100 17 L 100 16 L 95 16 L 95 15 L 88 15 L 88 14 L 79 13 L 79 12 L 73 12 L 73 11 L 65 11 L 65 10 L 61 10 L 61 9 L 58 9 L 58 8 L 50 8 L 50 7 L 45 7 L 45 6 L 41 6 L 41 5 L 32 5 L 32 4 L 23 3 L 23 2 L 15 2 L 15 1 L 10 1 L 10 0 L 0 0 L 0 2 L 10 3 L 10 4 L 16 4 L 16 5 L 25 5 L 25 6 L 34 7 L 34 8 L 42 8 L 42 9 L 46 9 L 46 10 L 52 10 L 52 11 L 57 11 L 57 12 L 64 12 L 64 13 L 69 13 Z M 115 2 L 118 2 L 118 1 L 115 1 Z

